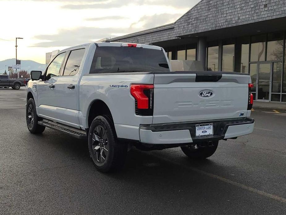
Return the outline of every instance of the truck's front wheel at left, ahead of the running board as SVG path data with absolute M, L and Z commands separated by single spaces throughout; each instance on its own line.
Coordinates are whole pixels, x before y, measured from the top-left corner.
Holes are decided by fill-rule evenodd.
M 39 120 L 41 119 L 37 116 L 35 101 L 31 98 L 27 102 L 26 122 L 28 129 L 32 134 L 41 134 L 45 130 L 45 126 L 38 124 Z

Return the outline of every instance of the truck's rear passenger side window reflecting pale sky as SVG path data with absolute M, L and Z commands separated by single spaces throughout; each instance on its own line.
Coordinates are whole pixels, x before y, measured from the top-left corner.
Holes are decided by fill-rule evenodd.
M 66 62 L 64 76 L 72 76 L 79 72 L 85 49 L 72 50 Z

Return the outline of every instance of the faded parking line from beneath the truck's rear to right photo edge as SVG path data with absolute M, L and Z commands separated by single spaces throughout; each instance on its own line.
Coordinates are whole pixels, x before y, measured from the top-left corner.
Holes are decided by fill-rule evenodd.
M 152 153 L 152 154 L 153 154 L 153 153 Z M 159 156 L 157 156 L 156 154 L 153 154 L 153 155 L 154 155 L 155 157 L 159 158 L 159 159 L 163 159 L 163 160 L 165 160 L 165 161 L 170 162 L 170 160 L 168 160 L 168 159 L 166 159 L 166 158 L 164 158 L 164 157 L 159 157 Z M 176 165 L 182 166 L 181 163 L 178 163 L 178 162 L 172 162 L 172 163 L 175 163 Z M 245 189 L 245 190 L 248 190 L 248 191 L 257 193 L 257 194 L 262 195 L 262 196 L 265 196 L 265 197 L 267 197 L 267 198 L 269 198 L 269 199 L 274 199 L 274 200 L 277 200 L 277 201 L 286 203 L 286 199 L 283 198 L 283 197 L 280 197 L 280 196 L 278 196 L 278 195 L 273 195 L 273 194 L 271 194 L 271 193 L 267 193 L 267 192 L 264 192 L 264 191 L 255 189 L 255 188 L 253 188 L 253 187 L 250 187 L 250 186 L 247 186 L 247 185 L 238 183 L 238 182 L 234 182 L 234 181 L 232 181 L 232 180 L 230 180 L 230 179 L 227 179 L 227 178 L 218 176 L 218 175 L 216 175 L 216 174 L 208 173 L 208 172 L 205 172 L 205 171 L 203 171 L 203 170 L 196 169 L 196 168 L 194 168 L 194 167 L 190 167 L 190 166 L 183 166 L 183 167 L 186 167 L 187 169 L 190 169 L 190 170 L 192 170 L 192 171 L 194 171 L 194 172 L 207 175 L 207 176 L 209 176 L 209 177 L 211 177 L 211 178 L 216 178 L 216 179 L 218 179 L 218 180 L 220 180 L 220 181 L 226 182 L 226 183 L 228 183 L 228 184 L 232 184 L 232 185 L 237 186 L 237 187 L 240 187 L 240 188 L 242 188 L 242 189 Z

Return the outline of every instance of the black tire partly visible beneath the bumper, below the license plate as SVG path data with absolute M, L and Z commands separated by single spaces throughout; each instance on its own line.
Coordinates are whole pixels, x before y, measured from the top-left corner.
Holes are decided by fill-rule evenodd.
M 203 159 L 212 156 L 218 146 L 219 141 L 214 141 L 213 146 L 199 147 L 198 149 L 192 149 L 191 147 L 181 147 L 182 151 L 189 158 Z

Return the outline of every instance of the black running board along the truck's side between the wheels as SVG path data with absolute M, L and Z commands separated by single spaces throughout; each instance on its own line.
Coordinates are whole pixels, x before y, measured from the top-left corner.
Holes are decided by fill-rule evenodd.
M 45 126 L 47 128 L 51 128 L 51 129 L 54 129 L 54 130 L 57 130 L 57 131 L 62 131 L 66 134 L 69 134 L 75 138 L 78 138 L 78 139 L 85 139 L 87 138 L 87 135 L 86 135 L 86 132 L 83 131 L 83 130 L 79 130 L 79 129 L 75 129 L 75 128 L 71 128 L 69 126 L 66 126 L 66 125 L 62 125 L 62 124 L 59 124 L 57 122 L 53 122 L 53 121 L 49 121 L 49 120 L 41 120 L 41 121 L 38 121 L 38 124 L 39 125 L 42 125 L 42 126 Z

